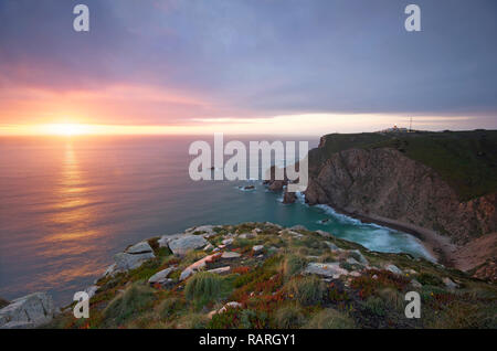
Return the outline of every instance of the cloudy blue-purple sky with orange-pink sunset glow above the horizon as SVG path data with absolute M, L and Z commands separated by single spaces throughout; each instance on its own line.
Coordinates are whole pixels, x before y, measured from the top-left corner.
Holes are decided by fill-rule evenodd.
M 89 32 L 73 30 L 77 3 Z M 0 135 L 496 129 L 496 14 L 495 0 L 1 0 Z

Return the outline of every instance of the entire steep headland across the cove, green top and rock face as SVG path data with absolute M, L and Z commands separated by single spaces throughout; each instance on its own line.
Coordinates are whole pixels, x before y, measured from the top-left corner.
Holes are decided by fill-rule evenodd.
M 455 244 L 445 254 L 457 256 L 463 245 L 497 232 L 496 136 L 495 131 L 325 136 L 308 156 L 306 202 L 444 235 Z M 288 193 L 284 199 L 295 201 Z M 479 255 L 478 264 L 494 254 L 490 249 Z

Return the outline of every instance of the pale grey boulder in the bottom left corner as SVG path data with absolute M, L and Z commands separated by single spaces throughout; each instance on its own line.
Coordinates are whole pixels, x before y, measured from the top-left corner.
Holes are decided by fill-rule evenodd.
M 34 292 L 0 309 L 0 328 L 36 328 L 50 322 L 54 316 L 52 297 L 46 292 Z

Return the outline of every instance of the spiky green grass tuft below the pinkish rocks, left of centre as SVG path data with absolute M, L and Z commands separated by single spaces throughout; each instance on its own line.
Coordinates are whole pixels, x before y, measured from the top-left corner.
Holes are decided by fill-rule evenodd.
M 221 294 L 222 278 L 213 273 L 200 272 L 190 278 L 184 287 L 187 299 L 194 299 L 207 304 Z

